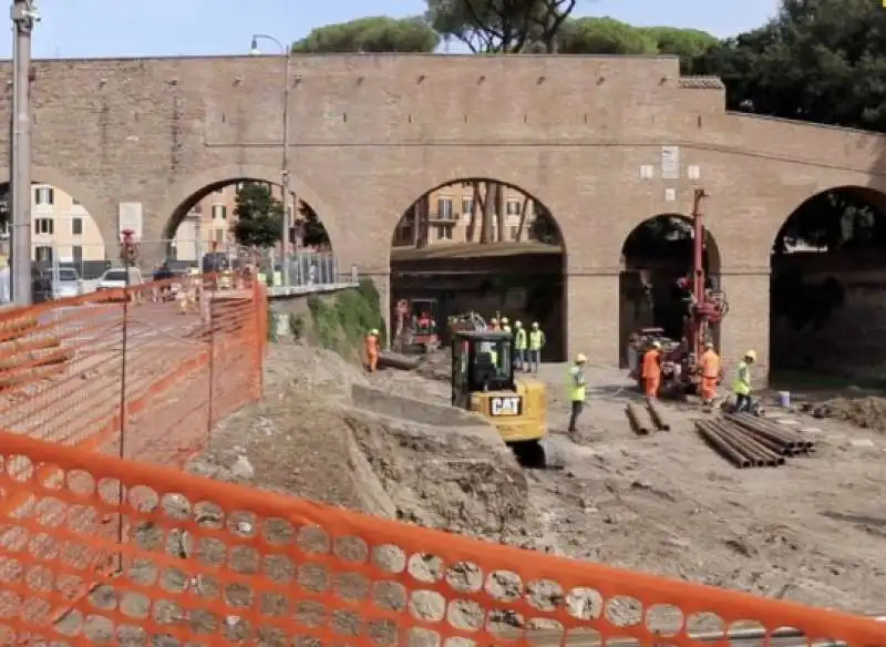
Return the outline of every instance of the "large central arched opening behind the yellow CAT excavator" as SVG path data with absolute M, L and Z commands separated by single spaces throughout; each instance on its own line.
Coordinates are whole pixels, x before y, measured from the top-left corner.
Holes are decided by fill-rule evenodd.
M 434 310 L 443 343 L 450 318 L 468 312 L 537 321 L 547 338 L 542 360 L 565 360 L 566 248 L 537 197 L 490 178 L 450 182 L 410 205 L 391 245 L 392 322 L 401 300 Z

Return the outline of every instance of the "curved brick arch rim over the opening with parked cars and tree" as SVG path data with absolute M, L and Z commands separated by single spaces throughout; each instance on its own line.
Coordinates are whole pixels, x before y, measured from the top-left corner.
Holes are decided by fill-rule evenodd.
M 166 201 L 161 205 L 156 213 L 154 226 L 152 227 L 159 239 L 166 237 L 172 225 L 172 233 L 182 222 L 187 208 L 199 197 L 212 192 L 214 188 L 226 186 L 238 181 L 267 182 L 269 184 L 280 184 L 280 170 L 274 166 L 262 166 L 256 164 L 237 164 L 228 166 L 216 166 L 207 168 L 195 175 L 187 176 L 173 185 L 167 192 Z M 320 197 L 320 195 L 307 185 L 299 177 L 290 173 L 289 186 L 299 199 L 306 202 L 317 212 L 320 220 L 329 234 L 332 248 L 341 245 L 343 240 L 342 223 L 331 206 Z M 152 236 L 146 236 L 151 238 Z M 169 236 L 172 237 L 172 236 Z

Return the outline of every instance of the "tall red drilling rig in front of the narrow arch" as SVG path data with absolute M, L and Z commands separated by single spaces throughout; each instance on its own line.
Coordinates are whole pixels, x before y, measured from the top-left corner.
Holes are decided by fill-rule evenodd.
M 697 188 L 692 202 L 692 269 L 681 277 L 677 285 L 683 295 L 686 315 L 680 340 L 664 336 L 662 328 L 642 328 L 630 336 L 628 341 L 628 366 L 630 377 L 642 388 L 641 362 L 643 353 L 658 341 L 661 345 L 661 394 L 662 397 L 684 398 L 698 392 L 701 381 L 699 358 L 704 343 L 712 340 L 713 327 L 729 312 L 725 294 L 715 289 L 704 271 L 704 216 L 702 203 L 708 194 Z M 650 306 L 655 309 L 651 291 L 647 285 Z

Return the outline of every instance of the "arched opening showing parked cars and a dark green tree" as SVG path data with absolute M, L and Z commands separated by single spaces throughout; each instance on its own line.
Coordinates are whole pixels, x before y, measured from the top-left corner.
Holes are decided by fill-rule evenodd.
M 286 249 L 291 258 L 290 283 L 319 281 L 322 277 L 317 270 L 331 271 L 328 264 L 318 268 L 316 263 L 318 254 L 331 258 L 326 227 L 311 205 L 290 193 L 285 232 L 284 202 L 282 187 L 262 179 L 239 177 L 209 184 L 169 216 L 161 240 L 162 260 L 182 270 L 215 266 L 220 258 L 235 265 L 248 260 L 279 278 Z

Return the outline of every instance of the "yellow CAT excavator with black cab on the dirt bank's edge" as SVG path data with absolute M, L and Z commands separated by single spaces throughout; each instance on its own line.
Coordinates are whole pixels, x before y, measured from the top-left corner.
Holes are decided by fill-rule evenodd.
M 452 336 L 452 405 L 473 411 L 498 430 L 526 468 L 544 468 L 547 437 L 545 384 L 514 378 L 509 332 L 461 330 Z

